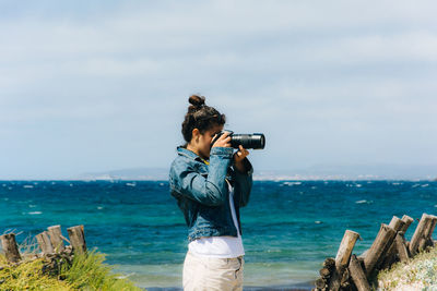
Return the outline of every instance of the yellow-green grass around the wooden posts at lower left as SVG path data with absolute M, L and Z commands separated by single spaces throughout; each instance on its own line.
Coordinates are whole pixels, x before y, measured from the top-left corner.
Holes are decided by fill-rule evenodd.
M 59 264 L 56 274 L 43 272 L 47 263 L 44 258 L 25 259 L 19 266 L 8 264 L 0 255 L 0 290 L 98 290 L 98 291 L 139 291 L 133 282 L 119 279 L 111 267 L 104 264 L 105 255 L 95 251 L 87 255 L 74 255 L 71 264 Z

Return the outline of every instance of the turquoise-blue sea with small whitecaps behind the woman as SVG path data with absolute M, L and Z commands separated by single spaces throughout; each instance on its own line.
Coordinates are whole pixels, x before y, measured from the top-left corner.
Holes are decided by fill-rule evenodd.
M 255 181 L 241 208 L 245 290 L 309 289 L 345 230 L 368 248 L 393 216 L 437 214 L 433 181 Z M 83 225 L 88 250 L 120 277 L 181 290 L 187 227 L 167 181 L 0 181 L 0 234 L 32 245 L 50 226 Z

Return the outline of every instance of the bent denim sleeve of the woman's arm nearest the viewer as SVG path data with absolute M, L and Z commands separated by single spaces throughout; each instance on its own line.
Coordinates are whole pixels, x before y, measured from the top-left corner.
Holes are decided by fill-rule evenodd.
M 209 173 L 203 177 L 193 167 L 173 165 L 172 186 L 190 199 L 208 206 L 218 206 L 226 201 L 227 183 L 225 180 L 227 168 L 231 166 L 233 148 L 213 147 L 210 155 Z

